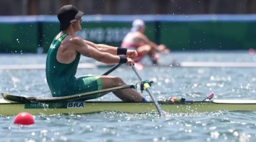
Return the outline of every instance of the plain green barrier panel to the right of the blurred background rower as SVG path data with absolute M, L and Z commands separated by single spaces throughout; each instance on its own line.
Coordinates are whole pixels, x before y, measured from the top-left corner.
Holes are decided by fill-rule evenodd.
M 172 50 L 237 50 L 256 47 L 256 22 L 161 23 L 160 43 Z M 168 28 L 165 28 L 168 27 Z

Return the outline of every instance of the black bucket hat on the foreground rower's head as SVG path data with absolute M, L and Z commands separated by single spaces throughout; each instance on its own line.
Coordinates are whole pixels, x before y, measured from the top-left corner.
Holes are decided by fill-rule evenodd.
M 60 21 L 60 31 L 66 29 L 70 23 L 78 21 L 83 12 L 79 11 L 73 5 L 64 5 L 58 12 L 58 19 Z

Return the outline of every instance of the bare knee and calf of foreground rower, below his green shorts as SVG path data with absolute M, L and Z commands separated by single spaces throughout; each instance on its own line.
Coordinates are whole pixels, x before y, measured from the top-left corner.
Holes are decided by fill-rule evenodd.
M 102 84 L 102 89 L 119 87 L 126 85 L 125 82 L 115 76 L 99 76 Z M 141 102 L 143 96 L 134 89 L 122 89 L 113 91 L 113 93 L 121 100 L 127 102 Z

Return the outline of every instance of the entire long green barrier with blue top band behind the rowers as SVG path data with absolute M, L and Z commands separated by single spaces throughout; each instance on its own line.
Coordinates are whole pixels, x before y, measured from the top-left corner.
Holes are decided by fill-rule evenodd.
M 134 19 L 146 23 L 150 40 L 171 50 L 255 48 L 256 15 L 95 15 L 82 17 L 78 36 L 120 46 Z M 0 16 L 0 53 L 47 52 L 59 32 L 57 16 Z M 43 50 L 42 50 L 43 49 Z

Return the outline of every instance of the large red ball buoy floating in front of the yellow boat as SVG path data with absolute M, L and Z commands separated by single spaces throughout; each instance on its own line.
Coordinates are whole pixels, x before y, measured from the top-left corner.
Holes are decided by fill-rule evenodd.
M 33 116 L 27 112 L 21 112 L 14 118 L 14 124 L 31 125 L 34 123 Z

